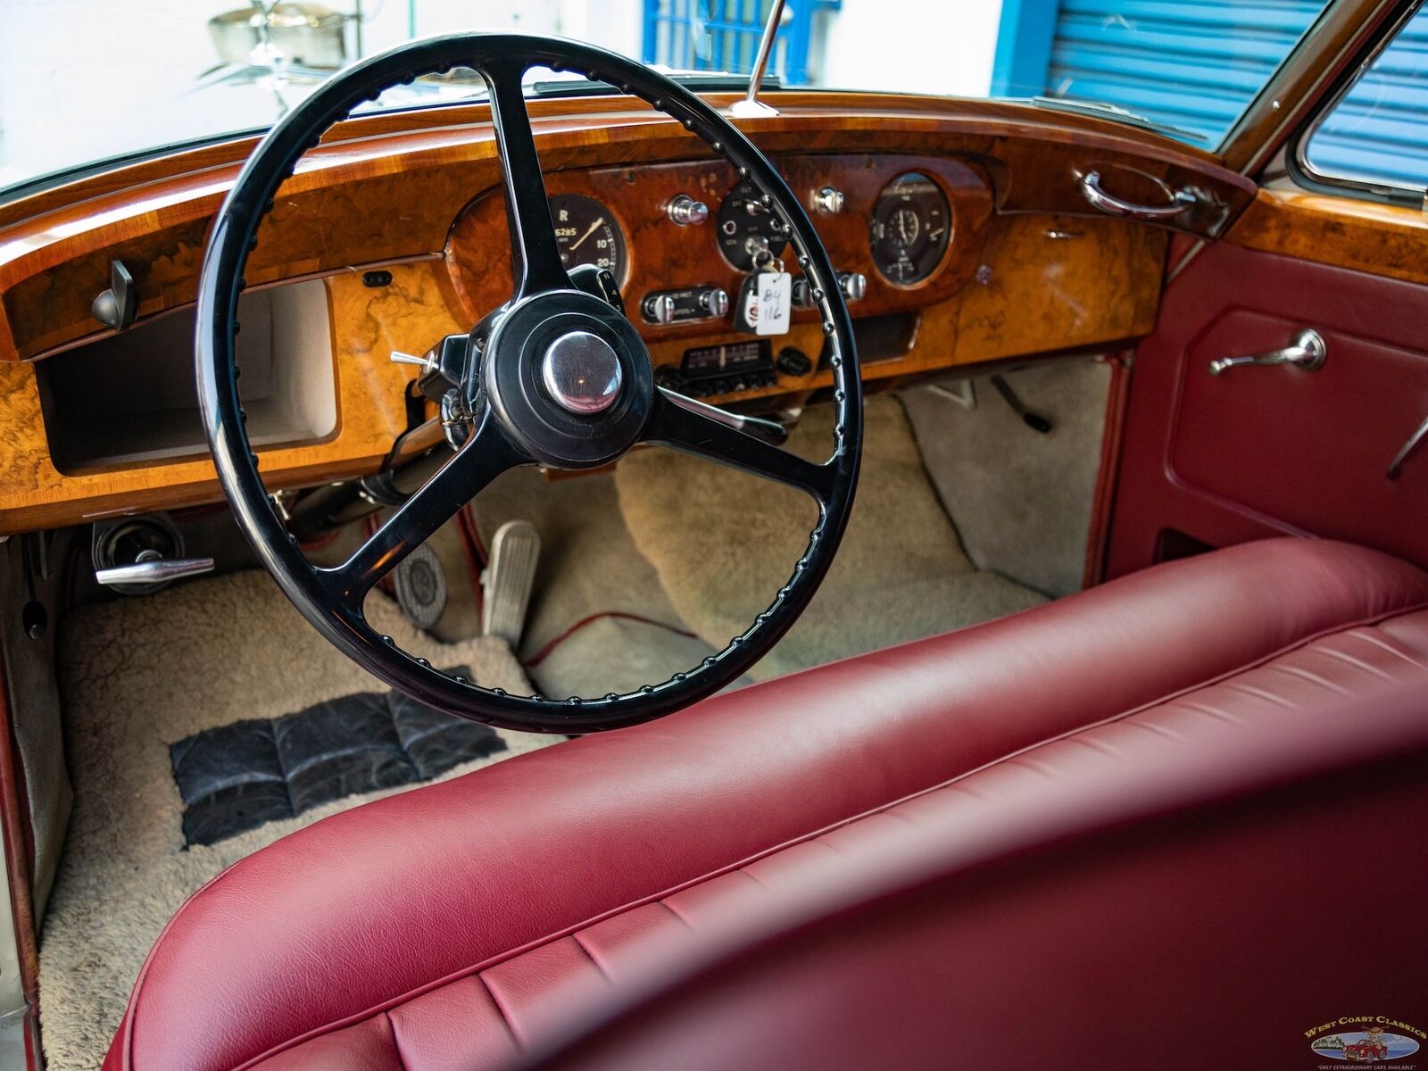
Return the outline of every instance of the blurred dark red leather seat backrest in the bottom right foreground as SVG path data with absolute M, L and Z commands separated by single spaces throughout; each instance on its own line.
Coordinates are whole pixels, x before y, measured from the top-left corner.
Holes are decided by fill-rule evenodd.
M 767 895 L 526 1067 L 1314 1067 L 1365 1014 L 1422 1040 L 1424 828 L 1418 613 L 747 867 Z

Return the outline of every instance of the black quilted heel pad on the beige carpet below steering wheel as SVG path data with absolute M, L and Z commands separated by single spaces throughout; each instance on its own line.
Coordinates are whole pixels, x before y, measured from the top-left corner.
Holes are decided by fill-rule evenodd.
M 470 677 L 457 667 L 450 673 Z M 234 721 L 169 745 L 184 843 L 214 844 L 344 795 L 430 781 L 506 750 L 487 725 L 400 693 L 360 693 Z

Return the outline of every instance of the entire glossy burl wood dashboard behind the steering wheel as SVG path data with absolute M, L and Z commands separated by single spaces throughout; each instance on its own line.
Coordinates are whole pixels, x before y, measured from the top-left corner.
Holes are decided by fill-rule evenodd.
M 1208 154 L 1097 119 L 877 94 L 771 100 L 781 114 L 740 126 L 805 203 L 824 186 L 844 194 L 841 211 L 813 218 L 834 264 L 867 278 L 865 296 L 850 306 L 867 380 L 1145 334 L 1168 231 L 1095 213 L 1077 183 L 1087 170 L 1120 181 L 1127 197 L 1152 197 L 1155 183 L 1195 187 L 1200 204 L 1177 227 L 1204 238 L 1218 237 L 1255 193 Z M 530 110 L 547 191 L 593 197 L 618 221 L 623 296 L 655 368 L 681 368 L 691 348 L 751 338 L 727 318 L 660 324 L 640 314 L 647 296 L 665 290 L 737 294 L 743 273 L 721 256 L 715 234 L 737 184 L 727 166 L 628 99 L 533 101 Z M 201 440 L 180 436 L 178 446 L 146 454 L 106 453 L 103 441 L 71 450 L 59 437 L 87 428 L 103 440 L 74 393 L 84 383 L 80 361 L 129 377 L 129 387 L 114 380 L 116 396 L 126 397 L 130 387 L 144 396 L 146 376 L 181 377 L 177 370 L 191 364 L 191 354 L 171 353 L 160 371 L 146 364 L 153 346 L 104 348 L 114 333 L 90 306 L 109 286 L 111 261 L 121 261 L 139 294 L 130 333 L 157 340 L 169 321 L 164 337 L 181 337 L 181 321 L 170 318 L 191 317 L 204 237 L 251 144 L 177 153 L 0 206 L 0 533 L 218 496 Z M 925 278 L 901 286 L 873 261 L 870 216 L 888 183 L 908 173 L 931 178 L 947 197 L 951 238 Z M 498 186 L 481 106 L 350 120 L 304 157 L 260 230 L 247 281 L 251 291 L 320 288 L 330 361 L 318 361 L 318 374 L 330 377 L 334 418 L 260 447 L 270 487 L 376 471 L 408 421 L 413 371 L 390 364 L 388 353 L 424 353 L 510 296 Z M 704 201 L 710 220 L 673 223 L 667 206 L 680 193 Z M 293 337 L 310 343 L 311 333 Z M 748 407 L 817 397 L 830 384 L 817 367 L 821 344 L 813 313 L 795 311 L 774 346 L 803 353 L 808 367 L 718 383 L 714 400 Z M 123 367 L 104 366 L 107 353 L 126 354 L 113 358 Z M 153 421 L 139 414 L 130 423 Z

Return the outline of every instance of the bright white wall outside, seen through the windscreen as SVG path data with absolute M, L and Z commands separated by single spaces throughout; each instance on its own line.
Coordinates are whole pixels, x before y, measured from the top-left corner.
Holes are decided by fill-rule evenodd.
M 351 10 L 353 0 L 328 3 Z M 208 17 L 240 6 L 241 0 L 0 0 L 0 186 L 157 146 L 176 133 L 217 133 L 270 116 L 270 93 L 246 103 L 231 96 L 233 116 L 204 111 L 221 97 L 184 96 L 217 63 Z M 363 6 L 370 19 L 364 53 L 408 37 L 408 0 L 363 0 Z M 1000 0 L 843 0 L 840 11 L 821 16 L 811 74 L 815 84 L 835 87 L 984 94 L 1000 9 Z M 416 0 L 414 21 L 420 36 L 520 29 L 638 57 L 643 11 L 643 0 Z

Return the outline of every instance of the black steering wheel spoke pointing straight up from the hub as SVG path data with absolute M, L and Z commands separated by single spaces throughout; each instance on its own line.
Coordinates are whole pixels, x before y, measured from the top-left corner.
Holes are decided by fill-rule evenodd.
M 506 223 L 511 231 L 511 276 L 516 300 L 547 290 L 568 290 L 570 276 L 560 261 L 555 224 L 545 200 L 536 136 L 521 77 L 521 60 L 490 60 L 481 74 L 491 91 L 491 121 L 501 150 L 501 181 L 506 188 Z

